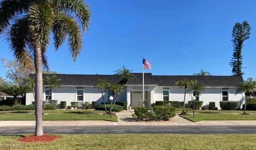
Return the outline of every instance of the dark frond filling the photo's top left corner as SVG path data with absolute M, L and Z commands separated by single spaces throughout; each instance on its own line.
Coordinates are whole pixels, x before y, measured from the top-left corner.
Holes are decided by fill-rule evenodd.
M 2 0 L 0 2 L 0 34 L 10 26 L 16 15 L 28 12 L 28 8 L 35 0 Z

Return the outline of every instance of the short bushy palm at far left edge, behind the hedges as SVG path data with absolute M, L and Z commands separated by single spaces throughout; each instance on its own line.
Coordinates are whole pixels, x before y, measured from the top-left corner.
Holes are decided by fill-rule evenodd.
M 14 105 L 17 105 L 17 96 L 29 92 L 30 88 L 28 86 L 18 86 L 5 82 L 0 85 L 0 91 L 12 95 L 14 97 Z

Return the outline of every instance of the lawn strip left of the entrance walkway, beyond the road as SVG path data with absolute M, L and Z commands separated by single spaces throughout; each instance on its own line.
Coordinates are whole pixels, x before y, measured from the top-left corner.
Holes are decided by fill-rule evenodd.
M 0 120 L 35 120 L 34 111 L 6 111 L 0 112 Z M 117 115 L 101 115 L 98 110 L 44 110 L 43 120 L 107 120 L 117 122 Z

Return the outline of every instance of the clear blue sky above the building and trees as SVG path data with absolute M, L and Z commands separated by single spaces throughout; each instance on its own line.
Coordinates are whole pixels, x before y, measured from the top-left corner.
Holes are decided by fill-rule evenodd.
M 65 74 L 114 74 L 126 66 L 142 72 L 142 56 L 151 64 L 145 73 L 192 75 L 200 69 L 230 76 L 232 28 L 246 20 L 250 38 L 242 49 L 243 78 L 256 78 L 255 0 L 86 0 L 91 25 L 83 34 L 76 62 L 67 43 L 58 51 L 48 46 L 50 70 Z M 0 58 L 14 59 L 4 38 Z M 0 64 L 0 76 L 6 69 Z

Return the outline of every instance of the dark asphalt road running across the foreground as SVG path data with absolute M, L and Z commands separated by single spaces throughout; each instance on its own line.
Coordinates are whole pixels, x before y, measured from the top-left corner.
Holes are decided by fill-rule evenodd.
M 2 127 L 0 135 L 34 134 L 35 127 Z M 256 134 L 256 126 L 44 126 L 44 134 Z

